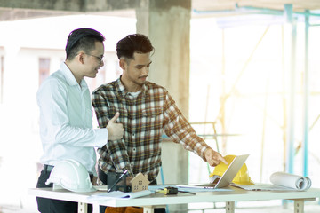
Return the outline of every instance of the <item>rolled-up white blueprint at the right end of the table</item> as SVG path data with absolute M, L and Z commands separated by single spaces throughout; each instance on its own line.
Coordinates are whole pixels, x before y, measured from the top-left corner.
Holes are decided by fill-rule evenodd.
M 275 172 L 271 175 L 270 181 L 274 185 L 294 188 L 298 190 L 308 190 L 311 186 L 309 177 L 292 175 L 284 172 Z

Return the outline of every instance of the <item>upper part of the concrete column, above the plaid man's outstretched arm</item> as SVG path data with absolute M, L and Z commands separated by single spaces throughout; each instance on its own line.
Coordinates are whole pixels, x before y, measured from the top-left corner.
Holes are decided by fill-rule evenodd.
M 146 0 L 142 5 L 136 12 L 137 32 L 147 35 L 156 48 L 148 80 L 168 89 L 188 118 L 191 2 Z

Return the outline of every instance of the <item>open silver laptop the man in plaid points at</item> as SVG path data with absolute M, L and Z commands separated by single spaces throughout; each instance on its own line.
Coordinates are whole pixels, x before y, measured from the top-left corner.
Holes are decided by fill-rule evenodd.
M 179 185 L 181 187 L 191 187 L 191 188 L 223 188 L 231 184 L 232 180 L 236 177 L 236 173 L 244 165 L 244 162 L 249 157 L 249 154 L 238 155 L 230 163 L 228 169 L 223 173 L 222 177 L 218 180 L 217 183 L 211 184 L 202 184 L 202 185 Z

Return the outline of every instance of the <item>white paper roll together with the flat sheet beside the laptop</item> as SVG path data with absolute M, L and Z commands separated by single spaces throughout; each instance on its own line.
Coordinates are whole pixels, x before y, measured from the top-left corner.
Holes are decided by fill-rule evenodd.
M 273 173 L 270 177 L 270 182 L 272 184 L 232 185 L 252 191 L 305 191 L 311 187 L 310 178 L 292 175 L 284 172 Z

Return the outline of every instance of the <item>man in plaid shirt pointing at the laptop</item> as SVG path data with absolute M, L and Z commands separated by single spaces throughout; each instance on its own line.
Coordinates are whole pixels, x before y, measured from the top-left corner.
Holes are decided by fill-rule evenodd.
M 147 36 L 124 37 L 116 44 L 123 75 L 92 92 L 92 105 L 100 128 L 105 128 L 116 112 L 120 113 L 117 121 L 124 125 L 124 138 L 108 141 L 99 149 L 100 172 L 129 170 L 131 177 L 141 172 L 148 175 L 151 184 L 156 183 L 163 132 L 211 166 L 220 162 L 228 164 L 196 135 L 168 91 L 147 81 L 152 51 L 154 47 Z

